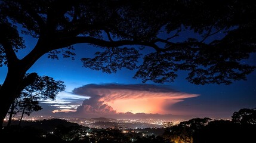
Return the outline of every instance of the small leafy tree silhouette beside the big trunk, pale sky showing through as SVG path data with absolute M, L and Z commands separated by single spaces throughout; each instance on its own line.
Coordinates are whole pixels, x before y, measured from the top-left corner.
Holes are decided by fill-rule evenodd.
M 34 73 L 35 74 L 35 73 Z M 27 77 L 29 73 L 25 75 Z M 11 123 L 12 117 L 21 112 L 20 123 L 24 114 L 29 116 L 33 111 L 42 110 L 39 105 L 40 100 L 54 100 L 56 95 L 64 91 L 64 82 L 54 80 L 53 77 L 36 75 L 35 81 L 23 89 L 20 96 L 11 105 L 10 117 L 8 125 Z M 16 111 L 14 111 L 16 109 Z

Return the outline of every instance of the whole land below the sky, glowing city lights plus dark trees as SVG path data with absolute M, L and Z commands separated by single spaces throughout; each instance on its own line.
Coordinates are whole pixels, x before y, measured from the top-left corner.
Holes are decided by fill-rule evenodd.
M 190 120 L 140 119 L 118 120 L 104 117 L 94 119 L 54 119 L 48 117 L 33 120 L 13 120 L 11 126 L 2 128 L 0 135 L 55 142 L 127 142 L 127 143 L 174 143 L 196 142 L 251 142 L 256 129 L 256 109 L 243 108 L 235 111 L 231 120 L 194 118 Z M 41 119 L 41 120 L 37 120 Z M 7 120 L 5 120 L 7 122 Z M 6 123 L 5 123 L 6 124 Z M 33 136 L 31 136 L 33 135 Z M 234 135 L 237 136 L 234 138 Z

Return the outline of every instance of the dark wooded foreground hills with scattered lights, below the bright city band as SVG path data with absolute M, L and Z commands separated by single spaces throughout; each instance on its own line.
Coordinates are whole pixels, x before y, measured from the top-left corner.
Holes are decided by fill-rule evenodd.
M 163 128 L 95 129 L 51 119 L 1 129 L 1 142 L 255 142 L 256 108 L 235 111 L 232 120 L 194 118 Z

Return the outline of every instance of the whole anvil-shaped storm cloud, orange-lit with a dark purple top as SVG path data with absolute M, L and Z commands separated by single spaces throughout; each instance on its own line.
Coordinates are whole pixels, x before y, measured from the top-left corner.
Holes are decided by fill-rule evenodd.
M 75 88 L 73 94 L 90 97 L 77 108 L 79 114 L 171 114 L 171 105 L 199 96 L 178 92 L 166 86 L 146 84 L 90 84 Z

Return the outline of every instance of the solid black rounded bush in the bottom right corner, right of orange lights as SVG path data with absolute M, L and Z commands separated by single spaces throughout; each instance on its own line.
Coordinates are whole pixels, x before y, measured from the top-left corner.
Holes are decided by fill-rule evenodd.
M 255 125 L 243 126 L 230 120 L 212 120 L 199 130 L 195 143 L 201 142 L 254 142 Z

